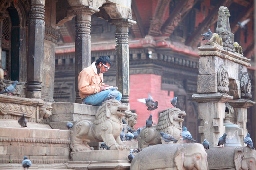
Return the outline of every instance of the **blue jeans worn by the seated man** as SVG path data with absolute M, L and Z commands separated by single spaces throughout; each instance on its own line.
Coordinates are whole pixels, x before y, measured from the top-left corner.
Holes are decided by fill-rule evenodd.
M 99 93 L 91 94 L 83 99 L 84 104 L 100 106 L 111 92 L 113 91 L 108 89 L 108 90 L 103 90 Z M 122 98 L 122 93 L 118 92 L 116 99 L 120 101 L 121 98 Z

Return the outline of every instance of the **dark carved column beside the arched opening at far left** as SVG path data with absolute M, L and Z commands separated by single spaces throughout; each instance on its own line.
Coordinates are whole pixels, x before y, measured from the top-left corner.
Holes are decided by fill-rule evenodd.
M 45 38 L 45 0 L 31 0 L 27 55 L 27 97 L 41 98 Z

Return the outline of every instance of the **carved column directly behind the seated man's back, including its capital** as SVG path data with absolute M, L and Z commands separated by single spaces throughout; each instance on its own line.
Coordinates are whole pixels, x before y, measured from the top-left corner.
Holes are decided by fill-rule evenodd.
M 99 9 L 90 6 L 74 8 L 76 15 L 75 37 L 75 93 L 76 103 L 82 103 L 78 90 L 78 75 L 83 68 L 91 65 L 91 15 Z

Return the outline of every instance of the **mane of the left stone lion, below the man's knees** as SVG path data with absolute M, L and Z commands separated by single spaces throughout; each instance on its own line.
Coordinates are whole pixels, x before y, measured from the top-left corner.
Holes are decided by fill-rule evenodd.
M 121 104 L 121 102 L 115 99 L 109 99 L 103 102 L 102 105 L 97 110 L 97 113 L 95 115 L 95 121 L 93 122 L 93 124 L 98 125 L 98 124 L 101 124 L 102 122 L 105 122 L 107 119 L 110 119 L 107 117 L 106 112 L 110 111 L 111 106 L 118 106 L 119 104 Z

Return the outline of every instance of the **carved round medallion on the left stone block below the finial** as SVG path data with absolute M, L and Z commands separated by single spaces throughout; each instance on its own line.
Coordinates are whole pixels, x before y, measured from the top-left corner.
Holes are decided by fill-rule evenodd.
M 222 64 L 217 72 L 217 83 L 218 83 L 218 91 L 221 93 L 229 92 L 229 74 Z

